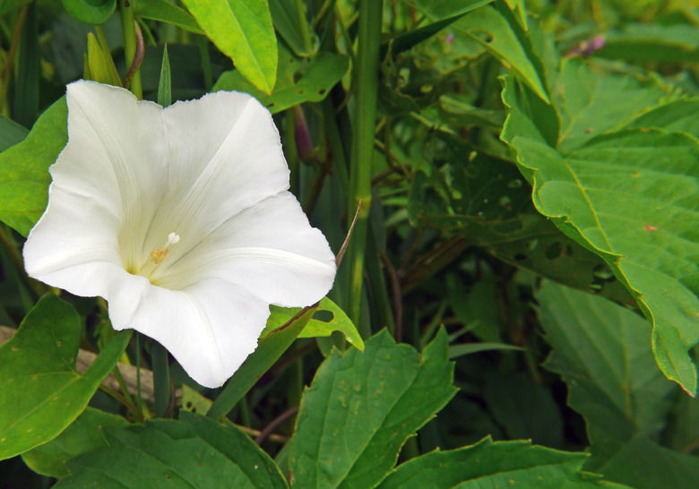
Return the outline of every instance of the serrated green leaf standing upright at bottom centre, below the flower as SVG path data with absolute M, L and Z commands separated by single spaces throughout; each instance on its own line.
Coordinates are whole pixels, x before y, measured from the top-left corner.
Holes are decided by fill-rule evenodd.
M 297 487 L 372 487 L 402 444 L 452 399 L 453 364 L 440 330 L 422 355 L 384 330 L 364 353 L 334 350 L 315 373 L 289 442 Z

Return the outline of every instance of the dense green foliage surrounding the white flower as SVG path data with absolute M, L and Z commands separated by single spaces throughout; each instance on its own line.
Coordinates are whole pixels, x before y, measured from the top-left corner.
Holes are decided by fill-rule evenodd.
M 0 485 L 695 487 L 698 62 L 691 0 L 3 0 Z M 357 212 L 219 390 L 23 270 L 79 78 L 249 92 Z

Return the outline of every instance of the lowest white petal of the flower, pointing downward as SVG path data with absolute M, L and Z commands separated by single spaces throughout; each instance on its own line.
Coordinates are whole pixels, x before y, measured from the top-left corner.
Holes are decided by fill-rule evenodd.
M 257 346 L 269 306 L 245 289 L 209 279 L 174 291 L 128 276 L 112 284 L 109 318 L 157 340 L 196 382 L 220 387 Z

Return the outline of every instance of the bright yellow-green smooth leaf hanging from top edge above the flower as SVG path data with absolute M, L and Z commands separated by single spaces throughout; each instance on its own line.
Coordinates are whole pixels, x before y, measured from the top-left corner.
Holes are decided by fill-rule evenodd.
M 206 35 L 237 72 L 270 94 L 277 79 L 277 38 L 267 0 L 184 0 Z

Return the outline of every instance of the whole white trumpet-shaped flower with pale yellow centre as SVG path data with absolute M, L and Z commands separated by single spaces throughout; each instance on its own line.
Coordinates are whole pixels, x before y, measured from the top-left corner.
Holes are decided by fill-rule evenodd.
M 24 245 L 31 277 L 108 301 L 116 330 L 168 348 L 207 387 L 255 350 L 269 305 L 332 287 L 334 256 L 288 192 L 269 111 L 219 91 L 163 109 L 68 86 L 68 144 Z

